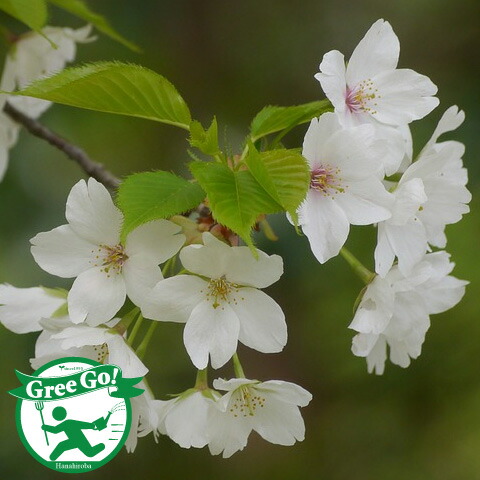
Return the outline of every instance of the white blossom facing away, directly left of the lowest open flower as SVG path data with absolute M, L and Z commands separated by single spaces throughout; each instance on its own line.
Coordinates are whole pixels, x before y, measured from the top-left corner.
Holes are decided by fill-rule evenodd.
M 218 398 L 220 395 L 213 390 L 192 388 L 171 400 L 157 400 L 158 431 L 182 448 L 204 447 L 209 441 L 209 419 Z

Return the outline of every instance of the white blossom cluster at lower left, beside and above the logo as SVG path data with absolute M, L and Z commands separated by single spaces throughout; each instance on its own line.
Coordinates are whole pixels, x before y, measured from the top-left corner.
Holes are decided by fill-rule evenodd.
M 129 450 L 137 435 L 152 431 L 182 447 L 208 445 L 225 457 L 243 449 L 252 430 L 281 445 L 303 440 L 298 407 L 311 399 L 303 388 L 246 379 L 238 357 L 238 378 L 217 379 L 214 389 L 206 380 L 208 364 L 225 365 L 239 341 L 263 353 L 285 346 L 283 311 L 261 291 L 283 274 L 281 257 L 260 250 L 255 257 L 248 247 L 230 246 L 210 232 L 203 233 L 202 244 L 185 246 L 181 227 L 169 220 L 143 224 L 123 239 L 123 216 L 93 178 L 72 188 L 66 218 L 66 225 L 32 238 L 31 251 L 46 272 L 75 279 L 70 291 L 0 286 L 0 321 L 16 333 L 41 331 L 33 368 L 81 356 L 118 365 L 127 377 L 145 376 L 142 344 L 133 349 L 135 329 L 128 335 L 128 325 L 117 317 L 128 296 L 133 312 L 141 310 L 137 323 L 185 323 L 185 347 L 199 369 L 195 386 L 173 400 L 155 400 L 143 384 L 146 393 L 133 400 Z M 185 273 L 164 278 L 159 265 L 177 254 Z

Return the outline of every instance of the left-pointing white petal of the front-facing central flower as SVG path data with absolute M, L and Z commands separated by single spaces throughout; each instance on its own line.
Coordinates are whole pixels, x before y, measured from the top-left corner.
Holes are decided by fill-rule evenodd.
M 177 275 L 161 280 L 142 299 L 142 315 L 161 322 L 185 323 L 205 298 L 208 283 L 195 275 Z

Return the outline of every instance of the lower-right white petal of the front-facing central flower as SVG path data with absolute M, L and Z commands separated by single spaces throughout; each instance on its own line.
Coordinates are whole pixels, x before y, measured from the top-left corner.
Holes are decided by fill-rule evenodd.
M 241 288 L 230 306 L 240 320 L 240 342 L 263 353 L 283 350 L 287 343 L 285 315 L 271 297 L 255 288 Z

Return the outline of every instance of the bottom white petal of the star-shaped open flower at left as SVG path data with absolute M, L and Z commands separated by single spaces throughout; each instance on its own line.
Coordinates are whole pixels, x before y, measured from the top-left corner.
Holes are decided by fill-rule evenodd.
M 68 311 L 72 322 L 100 325 L 108 322 L 125 302 L 126 289 L 122 275 L 110 276 L 101 267 L 80 274 L 68 294 Z

